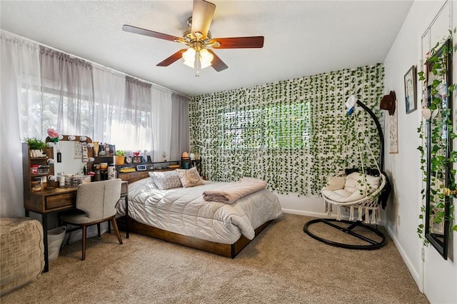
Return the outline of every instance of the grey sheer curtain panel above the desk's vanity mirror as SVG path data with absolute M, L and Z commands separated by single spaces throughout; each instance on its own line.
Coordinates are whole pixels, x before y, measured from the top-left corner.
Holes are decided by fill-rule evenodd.
M 56 113 L 47 128 L 61 134 L 94 136 L 92 66 L 89 62 L 40 46 L 43 111 Z

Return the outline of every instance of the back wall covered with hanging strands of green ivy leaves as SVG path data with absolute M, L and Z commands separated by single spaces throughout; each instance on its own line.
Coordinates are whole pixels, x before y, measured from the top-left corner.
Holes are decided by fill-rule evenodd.
M 261 178 L 277 193 L 319 196 L 326 178 L 376 164 L 376 125 L 361 108 L 347 116 L 354 94 L 383 126 L 382 64 L 304 76 L 195 96 L 189 102 L 191 151 L 210 181 Z

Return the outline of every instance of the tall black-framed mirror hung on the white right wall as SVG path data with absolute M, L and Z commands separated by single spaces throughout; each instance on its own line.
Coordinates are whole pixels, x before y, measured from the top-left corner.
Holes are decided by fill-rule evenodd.
M 452 161 L 452 44 L 448 39 L 426 62 L 426 218 L 425 236 L 444 259 L 448 258 L 451 193 L 456 188 Z

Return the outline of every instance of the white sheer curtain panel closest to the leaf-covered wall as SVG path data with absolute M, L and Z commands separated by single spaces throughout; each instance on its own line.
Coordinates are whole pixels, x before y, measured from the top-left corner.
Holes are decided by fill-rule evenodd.
M 179 161 L 181 158 L 171 159 L 171 125 L 172 121 L 171 91 L 158 86 L 151 88 L 152 113 L 152 161 Z

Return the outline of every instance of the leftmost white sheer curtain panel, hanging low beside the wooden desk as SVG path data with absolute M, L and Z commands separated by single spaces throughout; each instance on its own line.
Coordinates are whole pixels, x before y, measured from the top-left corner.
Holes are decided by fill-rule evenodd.
M 39 95 L 36 44 L 0 32 L 0 216 L 24 216 L 21 138 L 38 136 L 33 105 Z

